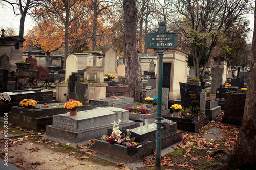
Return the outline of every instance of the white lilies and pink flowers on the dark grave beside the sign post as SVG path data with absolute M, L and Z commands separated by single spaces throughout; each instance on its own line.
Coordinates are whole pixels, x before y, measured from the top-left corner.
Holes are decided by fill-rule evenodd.
M 131 132 L 129 129 L 127 129 L 127 134 L 121 135 L 121 131 L 119 130 L 119 124 L 121 123 L 122 120 L 118 120 L 118 123 L 114 121 L 113 124 L 113 130 L 111 136 L 102 136 L 101 140 L 108 141 L 110 144 L 121 144 L 121 145 L 126 145 L 126 147 L 131 147 L 133 145 L 135 137 L 130 138 Z M 137 143 L 136 143 L 137 144 Z

